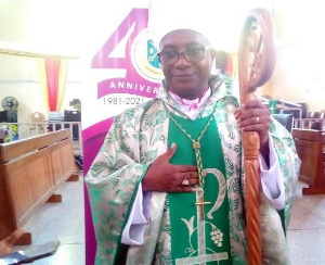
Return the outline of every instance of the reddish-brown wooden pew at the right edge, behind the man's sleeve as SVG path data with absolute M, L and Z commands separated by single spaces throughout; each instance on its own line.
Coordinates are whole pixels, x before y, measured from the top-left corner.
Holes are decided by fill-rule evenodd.
M 298 156 L 302 164 L 299 180 L 309 184 L 302 194 L 325 194 L 324 153 L 325 131 L 292 129 Z

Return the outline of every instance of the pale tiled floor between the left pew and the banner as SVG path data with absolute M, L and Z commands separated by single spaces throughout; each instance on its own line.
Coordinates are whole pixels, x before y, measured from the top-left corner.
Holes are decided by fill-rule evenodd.
M 43 204 L 24 228 L 31 232 L 32 245 L 53 240 L 58 240 L 60 245 L 52 256 L 31 264 L 83 265 L 86 257 L 82 176 L 79 177 L 79 181 L 64 182 L 55 193 L 62 194 L 62 202 Z

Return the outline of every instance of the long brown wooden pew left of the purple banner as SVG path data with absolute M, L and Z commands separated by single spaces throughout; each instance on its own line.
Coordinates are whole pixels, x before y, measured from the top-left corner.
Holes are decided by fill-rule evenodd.
M 55 190 L 78 180 L 70 130 L 0 144 L 0 240 L 23 226 L 44 202 L 61 202 Z M 30 244 L 26 232 L 17 244 Z

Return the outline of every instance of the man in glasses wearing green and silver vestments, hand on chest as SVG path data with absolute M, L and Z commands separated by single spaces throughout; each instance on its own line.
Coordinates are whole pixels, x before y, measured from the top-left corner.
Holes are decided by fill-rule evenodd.
M 86 176 L 96 264 L 246 264 L 243 130 L 261 143 L 264 263 L 288 263 L 292 138 L 261 102 L 225 94 L 207 37 L 176 29 L 159 48 L 160 93 L 115 118 Z

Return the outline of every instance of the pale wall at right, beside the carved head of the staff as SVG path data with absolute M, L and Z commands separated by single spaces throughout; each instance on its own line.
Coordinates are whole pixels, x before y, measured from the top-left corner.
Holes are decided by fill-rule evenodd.
M 308 111 L 325 110 L 324 55 L 300 45 L 278 50 L 272 98 L 307 102 Z

